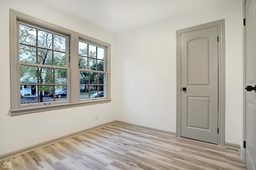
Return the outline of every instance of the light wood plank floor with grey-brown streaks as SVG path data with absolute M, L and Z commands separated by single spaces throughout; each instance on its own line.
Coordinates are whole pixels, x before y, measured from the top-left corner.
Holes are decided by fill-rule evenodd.
M 10 158 L 0 169 L 4 162 L 14 170 L 246 170 L 238 150 L 122 124 Z

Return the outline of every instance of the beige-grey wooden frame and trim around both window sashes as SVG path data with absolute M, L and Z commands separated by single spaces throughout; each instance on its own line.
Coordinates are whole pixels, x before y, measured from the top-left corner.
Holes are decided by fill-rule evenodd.
M 52 102 L 52 104 L 50 105 L 48 105 L 48 102 L 46 102 L 46 104 L 43 103 L 43 106 L 41 106 L 40 104 L 36 106 L 33 104 L 20 104 L 20 65 L 18 64 L 19 61 L 17 57 L 19 55 L 17 47 L 19 46 L 19 44 L 17 43 L 17 21 L 24 22 L 26 24 L 31 24 L 33 26 L 38 26 L 40 28 L 44 28 L 52 32 L 57 32 L 69 37 L 70 63 L 67 75 L 67 90 L 69 92 L 69 95 L 68 100 L 66 100 L 65 102 Z M 106 72 L 106 97 L 88 98 L 86 100 L 80 99 L 80 69 L 78 69 L 79 40 L 83 40 L 94 46 L 104 48 Z M 110 44 L 10 9 L 10 90 L 10 112 L 12 116 L 110 102 Z

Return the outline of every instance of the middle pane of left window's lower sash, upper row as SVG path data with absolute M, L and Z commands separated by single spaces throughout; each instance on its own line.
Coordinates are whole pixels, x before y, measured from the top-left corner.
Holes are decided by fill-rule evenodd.
M 53 68 L 39 68 L 39 83 L 53 84 Z

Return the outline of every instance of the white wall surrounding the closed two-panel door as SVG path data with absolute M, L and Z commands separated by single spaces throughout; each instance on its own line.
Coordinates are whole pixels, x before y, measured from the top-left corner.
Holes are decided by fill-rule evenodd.
M 176 132 L 176 30 L 225 19 L 225 142 L 242 144 L 242 0 L 204 3 L 118 34 L 117 120 Z

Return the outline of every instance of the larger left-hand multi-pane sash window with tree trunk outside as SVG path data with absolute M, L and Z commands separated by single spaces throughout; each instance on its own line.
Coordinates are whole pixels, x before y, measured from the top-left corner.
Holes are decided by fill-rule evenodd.
M 63 98 L 56 94 L 69 86 L 68 36 L 19 21 L 17 26 L 21 107 L 67 101 L 68 93 Z

